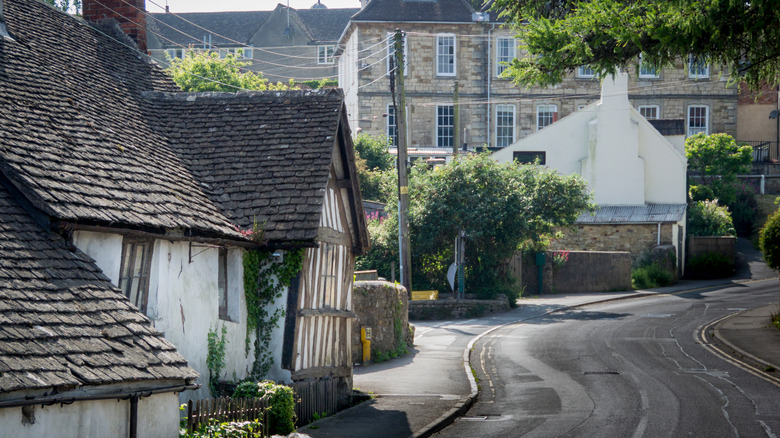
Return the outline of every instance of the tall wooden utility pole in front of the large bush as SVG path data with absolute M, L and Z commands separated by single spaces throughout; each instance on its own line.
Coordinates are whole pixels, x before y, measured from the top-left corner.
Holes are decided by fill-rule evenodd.
M 404 39 L 400 29 L 395 30 L 395 82 L 398 91 L 396 134 L 398 137 L 398 254 L 401 284 L 412 294 L 412 252 L 409 241 L 409 181 L 406 168 L 406 93 L 404 91 Z M 395 105 L 395 94 L 393 94 Z

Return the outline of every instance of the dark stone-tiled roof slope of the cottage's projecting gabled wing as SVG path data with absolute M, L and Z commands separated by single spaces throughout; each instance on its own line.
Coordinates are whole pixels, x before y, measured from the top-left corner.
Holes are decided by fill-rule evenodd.
M 270 242 L 313 241 L 343 116 L 340 92 L 144 96 L 160 135 L 170 136 L 232 221 L 246 229 L 264 223 Z

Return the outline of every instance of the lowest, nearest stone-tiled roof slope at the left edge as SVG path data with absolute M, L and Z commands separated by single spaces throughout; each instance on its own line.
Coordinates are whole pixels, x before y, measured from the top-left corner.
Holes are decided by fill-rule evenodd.
M 3 186 L 0 217 L 0 393 L 197 377 L 88 256 Z

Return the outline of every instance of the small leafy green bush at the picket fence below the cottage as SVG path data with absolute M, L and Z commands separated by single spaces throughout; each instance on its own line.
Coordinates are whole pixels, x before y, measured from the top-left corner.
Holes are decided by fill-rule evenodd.
M 268 396 L 271 406 L 268 412 L 268 431 L 271 434 L 287 435 L 295 430 L 295 393 L 292 388 L 277 385 L 269 380 L 241 382 L 233 398 Z

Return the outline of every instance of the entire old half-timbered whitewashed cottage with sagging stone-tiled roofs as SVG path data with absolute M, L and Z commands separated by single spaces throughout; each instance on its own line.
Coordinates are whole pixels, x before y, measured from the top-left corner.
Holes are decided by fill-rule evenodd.
M 85 18 L 110 17 L 104 3 L 85 1 Z M 209 396 L 209 332 L 228 345 L 220 378 L 252 371 L 242 258 L 256 249 L 306 253 L 269 306 L 286 320 L 268 377 L 348 394 L 352 261 L 368 238 L 341 93 L 180 93 L 110 18 L 0 6 L 0 183 L 200 373 L 182 399 Z M 241 232 L 255 222 L 262 239 Z

